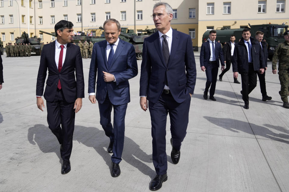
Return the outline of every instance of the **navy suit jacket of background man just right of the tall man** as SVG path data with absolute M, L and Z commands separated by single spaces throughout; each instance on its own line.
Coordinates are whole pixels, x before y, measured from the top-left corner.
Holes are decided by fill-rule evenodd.
M 207 68 L 208 63 L 210 61 L 210 57 L 211 57 L 210 41 L 207 41 L 207 42 L 204 42 L 201 46 L 201 52 L 200 52 L 201 67 L 205 66 L 205 68 Z M 219 59 L 221 61 L 221 65 L 225 66 L 222 46 L 217 41 L 215 41 L 215 57 L 216 57 L 218 67 L 220 67 Z

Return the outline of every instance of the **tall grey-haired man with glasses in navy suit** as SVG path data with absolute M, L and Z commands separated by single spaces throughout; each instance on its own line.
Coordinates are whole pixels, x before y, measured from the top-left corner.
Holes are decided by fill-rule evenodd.
M 191 37 L 173 30 L 172 7 L 157 3 L 152 18 L 158 32 L 144 39 L 140 77 L 140 105 L 151 115 L 153 163 L 157 176 L 149 189 L 158 190 L 167 180 L 166 119 L 171 123 L 171 159 L 177 164 L 188 126 L 191 95 L 196 83 L 196 63 Z M 148 101 L 149 105 L 148 105 Z

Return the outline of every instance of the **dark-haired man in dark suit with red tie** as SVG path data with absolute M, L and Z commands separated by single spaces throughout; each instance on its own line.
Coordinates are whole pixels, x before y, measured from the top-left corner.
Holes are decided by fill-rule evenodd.
M 73 24 L 61 20 L 54 26 L 56 41 L 43 46 L 36 84 L 37 107 L 43 111 L 43 88 L 48 69 L 44 98 L 47 122 L 60 143 L 63 159 L 61 174 L 70 169 L 75 113 L 82 106 L 84 78 L 79 46 L 71 43 Z M 75 72 L 75 74 L 74 74 Z M 75 80 L 76 78 L 76 80 Z M 60 126 L 61 125 L 61 126 Z

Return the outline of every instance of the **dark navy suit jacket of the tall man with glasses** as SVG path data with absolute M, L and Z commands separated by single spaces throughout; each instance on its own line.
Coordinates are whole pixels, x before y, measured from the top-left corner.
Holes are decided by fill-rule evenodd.
M 182 103 L 188 94 L 194 94 L 196 63 L 191 37 L 172 30 L 172 48 L 168 64 L 165 63 L 159 33 L 144 39 L 141 63 L 140 96 L 156 103 L 166 83 L 176 102 Z

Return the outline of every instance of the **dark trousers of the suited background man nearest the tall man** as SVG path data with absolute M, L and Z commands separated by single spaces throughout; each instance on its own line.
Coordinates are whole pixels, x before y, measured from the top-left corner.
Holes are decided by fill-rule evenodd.
M 217 66 L 216 63 L 208 64 L 208 66 L 206 67 L 207 82 L 206 82 L 205 91 L 208 92 L 211 86 L 210 88 L 211 97 L 213 97 L 215 94 L 216 82 L 217 82 L 217 77 L 218 77 L 218 69 L 219 67 Z

